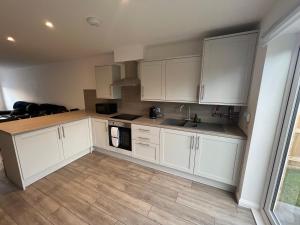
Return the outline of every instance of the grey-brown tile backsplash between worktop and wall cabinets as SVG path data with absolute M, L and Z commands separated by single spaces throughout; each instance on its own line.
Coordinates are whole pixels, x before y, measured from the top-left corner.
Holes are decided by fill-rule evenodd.
M 187 107 L 190 106 L 191 118 L 195 114 L 201 118 L 202 122 L 210 123 L 223 123 L 223 124 L 237 124 L 238 118 L 229 120 L 226 117 L 212 116 L 216 106 L 212 105 L 199 105 L 187 103 L 172 103 L 172 102 L 142 102 L 140 98 L 140 87 L 123 87 L 122 99 L 120 100 L 105 100 L 96 98 L 96 90 L 84 90 L 85 109 L 88 111 L 95 111 L 96 103 L 115 102 L 118 104 L 119 113 L 148 115 L 151 106 L 158 106 L 165 118 L 185 119 L 187 115 Z M 180 106 L 185 107 L 180 112 Z M 235 109 L 239 111 L 239 108 Z M 220 106 L 219 112 L 223 114 L 228 113 L 228 106 Z

